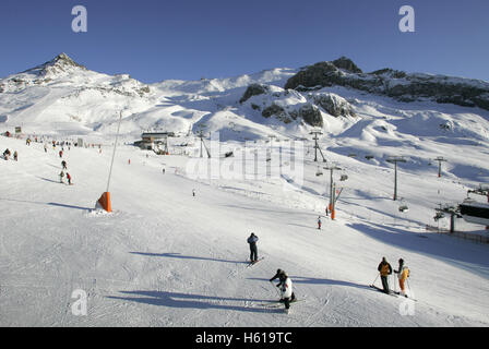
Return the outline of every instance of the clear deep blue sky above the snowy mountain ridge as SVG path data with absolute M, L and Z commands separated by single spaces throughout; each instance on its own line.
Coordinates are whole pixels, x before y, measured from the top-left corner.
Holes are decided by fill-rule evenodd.
M 88 13 L 74 33 L 71 10 Z M 409 4 L 416 32 L 401 33 Z M 0 2 L 0 76 L 60 52 L 145 83 L 299 68 L 341 56 L 366 72 L 394 68 L 489 81 L 488 0 L 52 0 Z

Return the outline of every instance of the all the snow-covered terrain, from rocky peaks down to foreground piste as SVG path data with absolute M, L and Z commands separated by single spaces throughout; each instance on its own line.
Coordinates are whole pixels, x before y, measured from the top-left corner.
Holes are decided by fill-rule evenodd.
M 60 55 L 0 80 L 0 132 L 22 127 L 49 144 L 0 136 L 2 152 L 19 152 L 19 161 L 0 159 L 0 325 L 488 326 L 487 244 L 426 226 L 446 228 L 449 219 L 433 220 L 439 204 L 460 203 L 489 182 L 489 111 L 466 103 L 472 95 L 464 105 L 441 100 L 443 88 L 412 98 L 359 88 L 375 75 L 384 86 L 420 91 L 415 75 L 363 74 L 347 59 L 319 67 L 146 85 Z M 336 82 L 318 75 L 324 67 Z M 458 91 L 486 88 L 433 79 L 456 82 Z M 170 140 L 169 156 L 120 144 L 110 180 L 115 212 L 104 214 L 93 208 L 108 185 L 120 113 L 121 143 L 147 129 L 179 139 Z M 201 125 L 219 132 L 210 159 L 199 157 L 189 133 Z M 322 131 L 325 163 L 319 155 L 313 161 L 312 130 Z M 74 183 L 64 185 L 59 147 L 49 142 L 77 137 L 102 146 L 64 147 Z M 187 155 L 178 155 L 182 149 Z M 222 156 L 228 151 L 232 157 Z M 390 156 L 406 160 L 398 201 Z M 440 178 L 438 156 L 448 159 Z M 341 168 L 334 220 L 324 210 L 326 165 Z M 487 234 L 463 219 L 456 227 Z M 250 232 L 265 258 L 248 268 Z M 406 261 L 417 302 L 368 287 L 379 285 L 382 256 L 394 268 Z M 289 315 L 264 304 L 277 297 L 269 282 L 277 268 L 305 300 Z M 73 312 L 80 290 L 83 316 Z

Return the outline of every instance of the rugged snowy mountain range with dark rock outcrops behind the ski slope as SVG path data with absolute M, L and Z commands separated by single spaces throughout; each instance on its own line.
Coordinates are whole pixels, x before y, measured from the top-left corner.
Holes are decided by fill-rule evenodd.
M 445 154 L 488 146 L 489 111 L 475 106 L 485 107 L 488 92 L 482 81 L 389 69 L 366 74 L 347 58 L 146 85 L 127 74 L 90 71 L 61 53 L 0 80 L 0 131 L 21 125 L 27 134 L 104 139 L 114 136 L 121 112 L 120 132 L 129 142 L 151 129 L 184 135 L 205 127 L 218 131 L 220 141 L 310 140 L 310 131 L 320 129 L 320 143 L 338 154 L 357 154 L 362 161 L 397 154 L 426 164 L 442 155 L 432 152 L 434 145 L 445 146 Z M 463 106 L 449 103 L 462 95 Z M 461 161 L 457 174 L 474 168 L 478 180 L 488 176 L 485 160 Z

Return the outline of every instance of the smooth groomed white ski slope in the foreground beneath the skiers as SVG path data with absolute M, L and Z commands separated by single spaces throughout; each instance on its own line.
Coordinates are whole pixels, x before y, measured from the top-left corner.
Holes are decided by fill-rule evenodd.
M 288 177 L 208 179 L 189 171 L 205 158 L 162 157 L 121 144 L 109 190 L 115 212 L 104 214 L 93 208 L 106 191 L 112 139 L 105 139 L 102 153 L 64 152 L 70 186 L 59 183 L 59 148 L 45 153 L 40 143 L 0 136 L 2 152 L 20 154 L 19 161 L 0 159 L 0 325 L 488 326 L 489 246 L 425 230 L 438 202 L 463 200 L 478 178 L 460 179 L 449 168 L 438 179 L 433 168 L 410 164 L 399 169 L 401 196 L 409 205 L 399 213 L 392 167 L 342 154 L 341 142 L 355 148 L 356 140 L 325 144 L 326 157 L 349 176 L 331 220 L 323 215 L 329 173 L 314 174 L 311 154 L 300 183 Z M 430 154 L 444 146 L 427 144 Z M 227 159 L 236 164 L 270 144 L 224 146 L 236 151 Z M 454 163 L 466 173 L 460 152 L 453 151 Z M 485 155 L 474 159 L 482 163 Z M 264 260 L 247 267 L 251 232 Z M 404 258 L 417 302 L 368 287 L 382 256 L 393 268 Z M 305 299 L 288 315 L 260 305 L 277 299 L 269 282 L 277 268 Z M 85 316 L 72 313 L 79 289 L 87 293 Z

